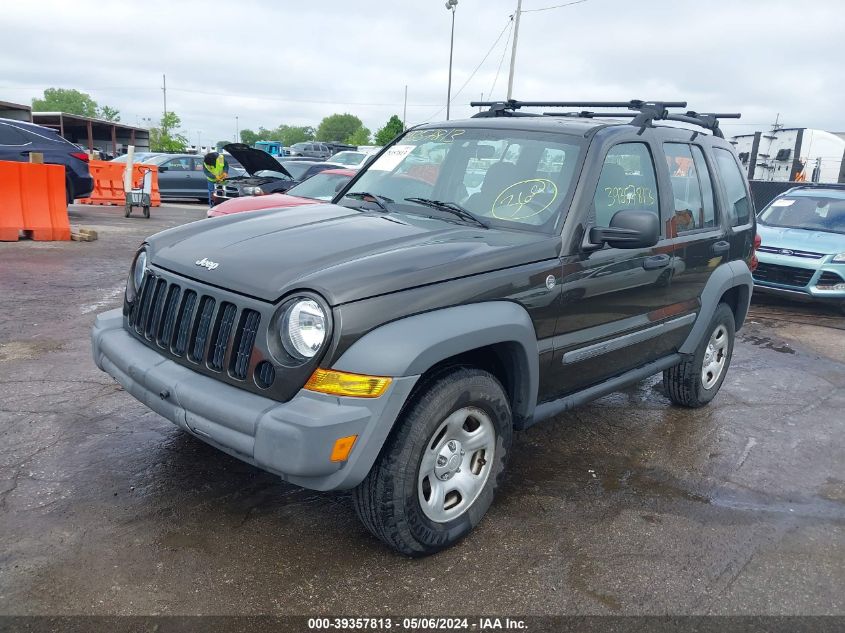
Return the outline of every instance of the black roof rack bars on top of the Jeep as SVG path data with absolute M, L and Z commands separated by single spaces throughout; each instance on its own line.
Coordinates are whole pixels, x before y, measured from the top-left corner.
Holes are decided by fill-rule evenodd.
M 630 125 L 647 127 L 654 121 L 678 121 L 690 123 L 710 130 L 714 136 L 724 138 L 722 130 L 719 129 L 719 119 L 738 119 L 740 114 L 716 113 L 716 112 L 695 112 L 688 110 L 684 114 L 669 112 L 669 108 L 686 108 L 686 101 L 643 101 L 632 99 L 631 101 L 473 101 L 470 106 L 488 107 L 489 110 L 473 115 L 473 118 L 503 117 L 503 116 L 559 116 L 579 118 L 618 118 L 633 117 Z M 625 112 L 594 112 L 581 110 L 575 112 L 544 112 L 542 114 L 517 112 L 521 108 L 627 108 Z

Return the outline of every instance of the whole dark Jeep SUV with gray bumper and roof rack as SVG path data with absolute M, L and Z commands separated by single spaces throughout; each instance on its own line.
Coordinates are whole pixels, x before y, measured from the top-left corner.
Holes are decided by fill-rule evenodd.
M 412 556 L 481 520 L 514 429 L 658 372 L 672 402 L 707 404 L 753 284 L 718 127 L 737 115 L 485 105 L 405 132 L 332 204 L 149 238 L 123 310 L 97 318 L 97 365 L 239 459 L 354 489 Z

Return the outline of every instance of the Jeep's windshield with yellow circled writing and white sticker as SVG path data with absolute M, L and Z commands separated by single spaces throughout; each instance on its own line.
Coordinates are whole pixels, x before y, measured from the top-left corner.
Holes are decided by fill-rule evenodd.
M 551 231 L 580 154 L 580 139 L 560 134 L 412 130 L 372 162 L 347 195 L 380 196 L 395 203 L 391 211 L 443 215 L 409 200 L 425 198 L 460 205 L 489 226 Z

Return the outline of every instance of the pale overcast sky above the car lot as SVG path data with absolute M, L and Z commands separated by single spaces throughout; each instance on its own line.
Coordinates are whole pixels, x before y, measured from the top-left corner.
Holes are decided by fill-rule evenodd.
M 790 127 L 845 131 L 843 0 L 586 0 L 536 11 L 565 2 L 523 0 L 514 97 L 684 99 L 741 111 L 746 125 L 728 134 L 766 128 L 777 113 Z M 236 116 L 256 129 L 351 112 L 375 131 L 402 116 L 406 84 L 409 125 L 445 118 L 445 0 L 3 5 L 0 100 L 77 88 L 146 126 L 161 116 L 166 74 L 168 110 L 203 144 L 232 139 Z M 505 97 L 515 8 L 459 0 L 452 118 L 471 114 L 468 102 L 494 83 L 492 96 Z

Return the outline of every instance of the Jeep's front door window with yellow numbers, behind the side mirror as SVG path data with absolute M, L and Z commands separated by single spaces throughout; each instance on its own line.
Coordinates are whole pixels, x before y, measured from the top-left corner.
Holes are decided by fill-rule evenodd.
M 645 143 L 621 143 L 607 153 L 593 202 L 596 226 L 610 226 L 622 209 L 660 215 L 654 162 Z

